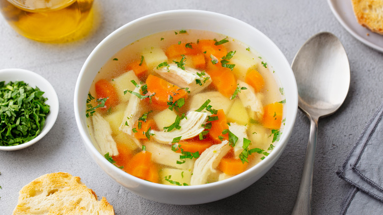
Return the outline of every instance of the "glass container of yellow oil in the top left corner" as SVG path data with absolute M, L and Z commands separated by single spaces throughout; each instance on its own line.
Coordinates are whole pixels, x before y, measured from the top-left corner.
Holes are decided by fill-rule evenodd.
M 93 0 L 0 0 L 0 9 L 19 34 L 41 42 L 66 42 L 82 35 L 78 31 L 89 30 L 92 4 Z

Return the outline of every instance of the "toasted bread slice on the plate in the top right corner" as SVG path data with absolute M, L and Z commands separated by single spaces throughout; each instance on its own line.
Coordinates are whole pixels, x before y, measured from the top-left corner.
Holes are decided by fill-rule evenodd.
M 354 13 L 360 25 L 383 34 L 383 0 L 352 0 Z

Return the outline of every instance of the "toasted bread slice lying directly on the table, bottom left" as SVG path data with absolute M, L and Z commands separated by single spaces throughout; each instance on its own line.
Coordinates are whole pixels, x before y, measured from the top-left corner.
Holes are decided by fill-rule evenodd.
M 19 192 L 13 215 L 114 215 L 105 197 L 100 201 L 79 177 L 56 172 L 40 176 Z

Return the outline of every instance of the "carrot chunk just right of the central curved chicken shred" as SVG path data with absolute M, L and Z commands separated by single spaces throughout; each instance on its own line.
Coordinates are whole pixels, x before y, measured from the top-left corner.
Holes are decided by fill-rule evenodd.
M 227 120 L 226 120 L 225 113 L 223 112 L 223 109 L 219 109 L 217 111 L 217 114 L 211 115 L 211 117 L 215 117 L 215 116 L 218 116 L 218 119 L 211 121 L 212 128 L 209 130 L 209 133 L 208 133 L 209 136 L 216 143 L 222 142 L 222 138 L 220 138 L 220 136 L 223 137 L 223 139 L 225 140 L 229 140 L 228 133 L 222 134 L 224 130 L 227 131 L 229 129 L 229 125 L 227 125 Z

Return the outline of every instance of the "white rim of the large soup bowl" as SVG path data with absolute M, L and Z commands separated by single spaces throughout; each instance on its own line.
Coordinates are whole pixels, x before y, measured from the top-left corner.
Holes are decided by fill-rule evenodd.
M 289 100 L 289 103 L 291 103 L 291 107 L 295 107 L 294 108 L 295 110 L 292 110 L 292 115 L 289 116 L 290 117 L 289 121 L 286 120 L 285 128 L 283 129 L 283 133 L 280 137 L 280 140 L 278 141 L 278 143 L 284 143 L 284 144 L 276 144 L 276 146 L 271 151 L 269 156 L 267 156 L 264 160 L 260 161 L 259 163 L 257 163 L 253 167 L 251 167 L 250 169 L 246 170 L 245 172 L 243 172 L 239 175 L 236 175 L 236 176 L 233 176 L 229 179 L 225 179 L 225 180 L 215 182 L 215 183 L 203 184 L 203 185 L 193 185 L 193 186 L 169 186 L 169 185 L 164 185 L 164 184 L 156 184 L 156 183 L 147 182 L 145 180 L 142 180 L 142 179 L 139 179 L 135 176 L 132 176 L 132 175 L 130 175 L 124 171 L 121 171 L 120 169 L 115 167 L 112 163 L 107 161 L 104 158 L 104 156 L 97 151 L 97 149 L 92 144 L 91 140 L 87 138 L 87 134 L 86 134 L 87 131 L 82 129 L 83 128 L 82 123 L 81 123 L 82 120 L 80 117 L 80 112 L 79 112 L 78 107 L 79 107 L 80 102 L 85 104 L 85 101 L 78 101 L 78 99 L 79 99 L 78 96 L 80 95 L 79 85 L 82 82 L 82 79 L 83 79 L 84 73 L 86 71 L 86 67 L 89 64 L 89 61 L 91 61 L 91 59 L 96 55 L 96 53 L 98 53 L 99 50 L 102 49 L 103 46 L 105 46 L 105 44 L 108 43 L 112 38 L 120 36 L 121 34 L 124 34 L 124 29 L 129 28 L 132 25 L 136 25 L 137 23 L 142 22 L 142 21 L 147 20 L 147 19 L 156 19 L 158 17 L 168 16 L 168 15 L 185 15 L 185 14 L 213 15 L 213 16 L 216 16 L 218 18 L 235 20 L 235 22 L 241 23 L 242 25 L 246 25 L 247 27 L 252 28 L 252 30 L 256 31 L 261 37 L 263 37 L 265 40 L 267 40 L 268 43 L 273 47 L 274 51 L 277 52 L 277 54 L 279 54 L 281 56 L 281 59 L 279 59 L 279 60 L 283 61 L 283 63 L 285 65 L 288 65 L 289 69 L 286 68 L 287 71 L 285 71 L 285 72 L 288 72 L 290 74 L 289 77 L 292 78 L 290 80 L 290 81 L 292 81 L 291 82 L 292 92 L 289 92 L 289 93 L 291 93 L 289 95 L 290 99 L 291 99 L 291 100 Z M 166 29 L 166 30 L 169 30 L 169 29 Z M 137 39 L 140 39 L 140 38 L 137 38 Z M 123 47 L 121 47 L 121 49 L 122 48 Z M 111 56 L 109 56 L 109 57 L 111 57 Z M 296 84 L 296 81 L 294 78 L 294 73 L 291 70 L 290 64 L 287 61 L 284 54 L 280 51 L 280 49 L 274 44 L 274 42 L 269 37 L 267 37 L 264 33 L 259 31 L 257 28 L 255 28 L 255 27 L 253 27 L 253 26 L 251 26 L 251 25 L 249 25 L 249 24 L 247 24 L 241 20 L 238 20 L 236 18 L 230 17 L 228 15 L 216 13 L 216 12 L 204 11 L 204 10 L 192 10 L 192 9 L 167 10 L 167 11 L 157 12 L 157 13 L 153 13 L 153 14 L 149 14 L 149 15 L 140 17 L 136 20 L 133 20 L 133 21 L 117 28 L 116 30 L 111 32 L 105 39 L 103 39 L 94 48 L 94 50 L 89 54 L 89 56 L 85 60 L 83 66 L 82 66 L 82 69 L 80 71 L 78 80 L 76 82 L 75 96 L 74 96 L 74 109 L 75 109 L 75 118 L 76 118 L 77 126 L 78 126 L 78 129 L 80 131 L 83 143 L 85 144 L 88 152 L 91 153 L 92 156 L 96 156 L 97 159 L 99 161 L 101 161 L 104 165 L 107 165 L 109 168 L 111 168 L 113 170 L 120 171 L 119 174 L 122 175 L 124 178 L 128 178 L 129 180 L 132 180 L 132 181 L 136 182 L 137 184 L 142 184 L 142 185 L 148 186 L 149 188 L 166 189 L 166 190 L 198 190 L 198 189 L 206 189 L 206 188 L 215 188 L 215 187 L 221 186 L 221 184 L 233 183 L 234 181 L 237 181 L 238 178 L 247 180 L 249 177 L 251 178 L 251 176 L 250 176 L 251 172 L 253 172 L 255 169 L 262 168 L 263 165 L 266 165 L 266 163 L 272 161 L 275 156 L 277 156 L 278 154 L 280 155 L 281 151 L 283 151 L 285 146 L 287 145 L 288 139 L 289 139 L 289 137 L 292 133 L 293 127 L 294 127 L 294 123 L 295 123 L 295 119 L 296 119 L 296 115 L 297 115 L 297 111 L 298 111 L 298 88 L 297 88 L 297 84 Z M 288 122 L 288 124 L 287 124 L 287 122 Z M 96 161 L 96 163 L 97 163 L 97 161 Z M 97 164 L 100 165 L 99 163 L 97 163 Z M 105 172 L 107 174 L 109 174 L 107 171 L 105 171 Z

